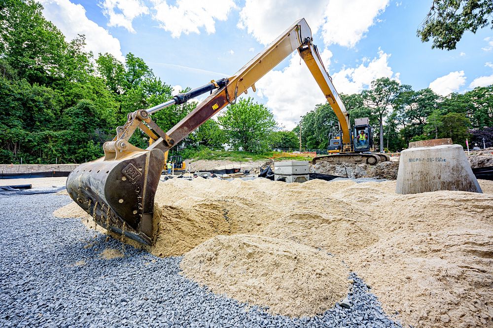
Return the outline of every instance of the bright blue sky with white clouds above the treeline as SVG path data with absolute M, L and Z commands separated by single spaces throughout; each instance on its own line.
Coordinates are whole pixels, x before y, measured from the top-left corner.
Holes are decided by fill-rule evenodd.
M 453 51 L 431 49 L 416 30 L 431 0 L 42 0 L 43 13 L 88 50 L 143 58 L 172 86 L 232 75 L 297 18 L 305 17 L 339 92 L 387 76 L 446 95 L 493 83 L 493 31 L 466 33 Z M 257 84 L 254 98 L 292 128 L 324 101 L 294 54 Z M 248 93 L 252 95 L 251 92 Z

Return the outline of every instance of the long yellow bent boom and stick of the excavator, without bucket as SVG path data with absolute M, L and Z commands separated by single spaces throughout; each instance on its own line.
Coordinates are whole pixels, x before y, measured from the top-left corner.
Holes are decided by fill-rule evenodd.
M 332 84 L 329 74 L 323 66 L 317 46 L 315 46 L 312 41 L 312 31 L 306 20 L 302 18 L 284 31 L 281 36 L 261 53 L 256 55 L 237 73 L 229 77 L 225 86 L 211 94 L 211 96 L 199 104 L 193 111 L 168 131 L 170 138 L 175 142 L 179 142 L 202 123 L 215 115 L 219 110 L 230 103 L 234 103 L 237 96 L 247 92 L 248 88 L 251 87 L 255 92 L 255 82 L 281 63 L 282 60 L 292 54 L 293 51 L 298 50 L 300 56 L 308 66 L 308 69 L 315 77 L 325 98 L 336 113 L 342 129 L 343 144 L 346 145 L 348 147 L 347 150 L 349 150 L 349 147 L 351 147 L 349 115 L 339 94 Z M 158 140 L 153 143 L 150 148 L 159 148 L 163 151 L 171 148 L 162 141 L 163 140 Z

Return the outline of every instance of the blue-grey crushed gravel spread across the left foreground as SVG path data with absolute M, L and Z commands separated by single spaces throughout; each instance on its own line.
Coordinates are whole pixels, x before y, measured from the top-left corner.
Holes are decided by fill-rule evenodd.
M 69 202 L 0 198 L 0 327 L 402 327 L 354 273 L 349 308 L 291 319 L 199 287 L 179 275 L 181 257 L 126 246 L 124 257 L 103 259 L 104 249 L 122 244 L 78 219 L 52 217 Z

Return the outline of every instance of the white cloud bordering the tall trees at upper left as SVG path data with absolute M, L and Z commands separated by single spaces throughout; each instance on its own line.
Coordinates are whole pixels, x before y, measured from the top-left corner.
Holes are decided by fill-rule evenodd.
M 44 17 L 55 24 L 67 40 L 83 34 L 86 36 L 86 51 L 92 51 L 95 56 L 100 52 L 109 52 L 119 60 L 124 60 L 120 41 L 87 18 L 86 10 L 81 4 L 69 0 L 41 0 L 40 3 L 44 7 Z

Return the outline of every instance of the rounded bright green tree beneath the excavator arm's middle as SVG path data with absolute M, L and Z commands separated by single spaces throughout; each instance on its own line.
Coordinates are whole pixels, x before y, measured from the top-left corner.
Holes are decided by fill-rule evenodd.
M 274 114 L 264 105 L 254 103 L 250 97 L 229 105 L 218 120 L 228 143 L 245 151 L 267 149 L 269 134 L 277 125 Z

